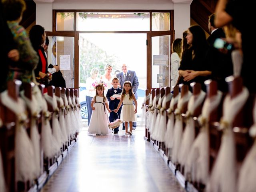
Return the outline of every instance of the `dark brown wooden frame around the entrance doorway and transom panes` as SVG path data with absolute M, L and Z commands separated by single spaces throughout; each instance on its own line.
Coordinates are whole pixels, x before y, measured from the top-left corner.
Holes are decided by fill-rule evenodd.
M 56 14 L 57 12 L 74 12 L 74 31 L 57 31 Z M 149 31 L 77 31 L 76 30 L 76 12 L 149 12 L 150 13 L 150 30 Z M 170 13 L 170 30 L 169 31 L 152 31 L 152 12 L 169 12 Z M 147 34 L 147 74 L 146 86 L 151 89 L 152 83 L 152 61 L 151 61 L 151 38 L 153 36 L 171 35 L 171 44 L 174 40 L 174 10 L 52 10 L 52 31 L 46 32 L 49 36 L 69 36 L 74 37 L 74 88 L 79 90 L 79 33 L 146 33 Z M 171 34 L 170 34 L 171 33 Z M 171 53 L 170 53 L 171 54 Z M 170 72 L 169 72 L 170 73 Z M 169 80 L 170 81 L 170 80 Z

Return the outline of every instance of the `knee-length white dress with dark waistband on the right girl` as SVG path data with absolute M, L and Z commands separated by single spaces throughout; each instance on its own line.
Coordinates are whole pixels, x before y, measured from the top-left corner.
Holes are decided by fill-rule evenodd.
M 121 120 L 123 122 L 135 122 L 133 99 L 129 99 L 129 94 L 124 95 L 123 106 L 121 111 Z

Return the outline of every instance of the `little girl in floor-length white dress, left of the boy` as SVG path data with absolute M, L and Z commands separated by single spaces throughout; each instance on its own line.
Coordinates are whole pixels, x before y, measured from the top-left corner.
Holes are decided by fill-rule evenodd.
M 108 128 L 108 112 L 111 110 L 108 107 L 108 100 L 104 96 L 106 85 L 104 82 L 95 82 L 96 96 L 92 98 L 92 117 L 88 128 L 88 134 L 107 135 L 112 133 Z

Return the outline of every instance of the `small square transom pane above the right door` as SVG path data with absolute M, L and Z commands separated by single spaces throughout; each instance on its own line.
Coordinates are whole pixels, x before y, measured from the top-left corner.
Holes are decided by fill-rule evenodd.
M 170 30 L 170 13 L 152 12 L 152 31 Z

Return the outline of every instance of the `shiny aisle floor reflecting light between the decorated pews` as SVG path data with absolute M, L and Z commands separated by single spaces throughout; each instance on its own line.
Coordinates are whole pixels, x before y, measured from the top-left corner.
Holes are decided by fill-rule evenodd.
M 183 192 L 171 170 L 143 139 L 144 129 L 132 136 L 88 136 L 78 142 L 41 192 Z

